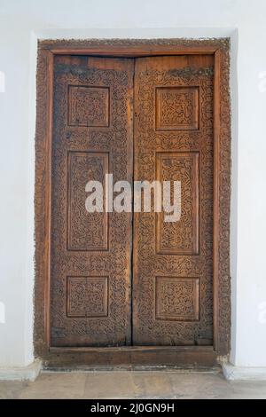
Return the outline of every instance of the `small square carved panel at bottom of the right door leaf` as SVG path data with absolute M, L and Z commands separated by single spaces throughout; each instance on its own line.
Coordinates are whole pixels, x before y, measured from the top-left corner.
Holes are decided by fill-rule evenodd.
M 198 321 L 199 278 L 156 277 L 155 318 Z

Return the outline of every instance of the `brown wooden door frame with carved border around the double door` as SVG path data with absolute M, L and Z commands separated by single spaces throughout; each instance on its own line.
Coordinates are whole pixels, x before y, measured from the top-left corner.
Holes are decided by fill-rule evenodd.
M 50 347 L 51 142 L 55 55 L 144 57 L 212 54 L 214 98 L 214 345 L 112 348 Z M 35 130 L 35 357 L 47 366 L 203 365 L 230 351 L 231 107 L 230 40 L 44 40 L 38 43 Z

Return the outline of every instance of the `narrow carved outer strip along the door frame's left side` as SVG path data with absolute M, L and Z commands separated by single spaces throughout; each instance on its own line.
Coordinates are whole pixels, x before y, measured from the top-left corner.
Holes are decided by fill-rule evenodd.
M 47 314 L 47 300 L 45 291 L 47 290 L 47 271 L 49 264 L 45 254 L 47 242 L 47 195 L 43 193 L 49 184 L 49 179 L 45 177 L 49 163 L 47 161 L 48 147 L 48 53 L 40 51 L 37 62 L 37 106 L 36 106 L 36 132 L 35 132 L 35 356 L 43 356 L 48 351 L 46 338 L 45 316 Z

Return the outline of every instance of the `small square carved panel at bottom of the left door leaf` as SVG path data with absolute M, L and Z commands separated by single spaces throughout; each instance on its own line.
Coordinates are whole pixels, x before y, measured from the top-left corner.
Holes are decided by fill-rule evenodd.
M 107 317 L 108 277 L 67 277 L 67 317 Z

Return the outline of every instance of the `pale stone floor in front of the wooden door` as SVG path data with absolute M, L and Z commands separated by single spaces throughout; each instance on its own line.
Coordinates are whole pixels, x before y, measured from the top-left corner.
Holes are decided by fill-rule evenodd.
M 0 398 L 266 398 L 266 382 L 227 382 L 220 372 L 43 372 L 0 382 Z

